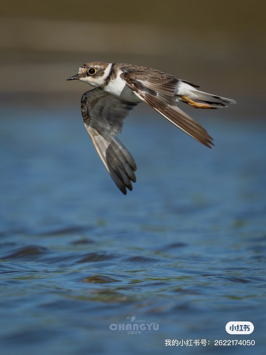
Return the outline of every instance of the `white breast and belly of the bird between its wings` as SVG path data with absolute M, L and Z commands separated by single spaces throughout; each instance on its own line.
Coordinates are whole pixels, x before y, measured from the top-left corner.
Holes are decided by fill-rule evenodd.
M 119 75 L 122 71 L 119 71 Z M 131 102 L 142 102 L 137 95 L 132 91 L 120 78 L 117 76 L 115 80 L 111 80 L 109 84 L 104 88 L 104 91 L 109 92 L 110 94 L 117 96 L 123 100 L 131 101 Z

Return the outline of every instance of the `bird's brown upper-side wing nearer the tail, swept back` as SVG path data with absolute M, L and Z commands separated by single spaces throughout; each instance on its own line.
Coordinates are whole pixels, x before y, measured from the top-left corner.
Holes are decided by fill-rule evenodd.
M 176 106 L 173 95 L 179 79 L 157 70 L 151 70 L 147 76 L 143 69 L 121 69 L 121 79 L 135 95 L 195 140 L 209 148 L 214 145 L 208 132 Z

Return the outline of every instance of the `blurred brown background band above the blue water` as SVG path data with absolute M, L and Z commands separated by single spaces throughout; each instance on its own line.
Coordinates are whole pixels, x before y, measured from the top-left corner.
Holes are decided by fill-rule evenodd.
M 76 100 L 86 87 L 66 78 L 93 60 L 154 67 L 243 101 L 265 97 L 264 1 L 11 0 L 0 16 L 1 97 Z

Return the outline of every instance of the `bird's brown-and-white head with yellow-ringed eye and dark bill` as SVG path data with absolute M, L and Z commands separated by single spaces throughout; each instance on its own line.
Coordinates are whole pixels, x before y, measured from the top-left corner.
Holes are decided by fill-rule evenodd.
M 71 76 L 67 80 L 80 80 L 90 86 L 101 87 L 109 75 L 109 66 L 109 63 L 89 62 L 79 68 L 78 74 Z

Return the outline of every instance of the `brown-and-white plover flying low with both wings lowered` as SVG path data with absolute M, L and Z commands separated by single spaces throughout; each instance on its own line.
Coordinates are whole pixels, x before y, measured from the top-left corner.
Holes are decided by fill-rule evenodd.
M 81 98 L 84 125 L 105 168 L 126 195 L 136 181 L 137 166 L 117 138 L 123 120 L 140 102 L 146 102 L 168 121 L 211 148 L 213 139 L 178 102 L 194 108 L 217 109 L 235 100 L 200 91 L 199 85 L 178 79 L 159 70 L 119 63 L 89 62 L 67 80 L 79 80 L 94 87 Z

